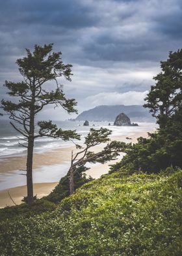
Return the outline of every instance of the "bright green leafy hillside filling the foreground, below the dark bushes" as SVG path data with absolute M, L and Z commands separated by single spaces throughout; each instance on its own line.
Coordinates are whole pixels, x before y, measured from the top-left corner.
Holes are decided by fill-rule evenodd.
M 83 185 L 53 212 L 1 222 L 1 255 L 181 255 L 182 171 Z

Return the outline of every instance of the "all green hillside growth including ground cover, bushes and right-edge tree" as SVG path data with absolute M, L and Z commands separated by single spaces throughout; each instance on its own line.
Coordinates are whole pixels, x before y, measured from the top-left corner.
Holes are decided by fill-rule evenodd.
M 146 98 L 159 129 L 99 180 L 70 173 L 44 199 L 0 210 L 2 256 L 181 256 L 182 50 L 161 62 Z

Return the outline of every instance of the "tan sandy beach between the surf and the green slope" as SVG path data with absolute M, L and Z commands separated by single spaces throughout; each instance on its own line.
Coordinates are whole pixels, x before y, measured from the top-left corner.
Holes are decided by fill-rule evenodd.
M 151 131 L 150 131 L 151 132 Z M 119 140 L 123 142 L 132 142 L 136 143 L 137 138 L 143 136 L 148 137 L 148 131 L 136 132 L 134 135 L 129 136 L 131 140 L 126 139 L 126 136 L 116 136 L 112 137 L 112 140 Z M 100 147 L 96 149 L 98 151 Z M 56 150 L 51 150 L 50 152 L 45 153 L 34 153 L 34 168 L 44 167 L 46 165 L 59 165 L 65 163 L 65 161 L 70 161 L 70 155 L 72 150 L 75 150 L 74 147 L 69 148 L 59 148 Z M 120 156 L 122 158 L 123 153 Z M 111 161 L 104 165 L 95 165 L 87 171 L 87 175 L 92 176 L 92 178 L 99 178 L 101 175 L 106 174 L 109 171 L 109 165 L 114 164 L 120 159 Z M 14 170 L 23 170 L 25 169 L 26 157 L 7 157 L 1 161 L 1 172 L 0 174 L 11 174 Z M 60 177 L 61 178 L 61 177 Z M 44 197 L 48 195 L 57 182 L 46 182 L 46 183 L 35 183 L 34 184 L 34 195 L 37 195 L 38 198 Z M 20 204 L 21 200 L 27 194 L 27 187 L 25 185 L 18 187 L 11 187 L 9 189 L 4 189 L 0 191 L 0 208 L 5 206 L 12 206 L 14 203 L 10 199 L 8 193 L 16 202 L 16 204 Z

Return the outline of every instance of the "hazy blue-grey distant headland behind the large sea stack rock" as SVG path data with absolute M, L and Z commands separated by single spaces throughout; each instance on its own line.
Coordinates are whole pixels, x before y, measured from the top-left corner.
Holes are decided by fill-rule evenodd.
M 75 120 L 77 121 L 114 121 L 121 112 L 125 113 L 131 121 L 155 122 L 149 110 L 140 105 L 101 105 L 83 111 Z

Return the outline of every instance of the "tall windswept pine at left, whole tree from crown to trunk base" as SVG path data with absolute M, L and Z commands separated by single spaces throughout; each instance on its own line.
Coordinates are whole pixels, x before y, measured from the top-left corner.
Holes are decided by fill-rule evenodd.
M 26 49 L 27 56 L 18 59 L 16 63 L 23 76 L 21 82 L 5 82 L 8 95 L 14 100 L 1 101 L 1 107 L 7 112 L 10 124 L 23 135 L 27 148 L 27 200 L 29 206 L 33 202 L 32 161 L 34 140 L 42 136 L 69 140 L 79 138 L 75 131 L 63 131 L 52 121 L 39 121 L 38 132 L 35 132 L 35 117 L 47 105 L 60 106 L 68 113 L 75 110 L 75 99 L 67 99 L 62 91 L 58 78 L 64 77 L 71 81 L 72 65 L 64 64 L 61 52 L 52 52 L 53 44 L 34 46 L 34 51 Z M 53 89 L 54 88 L 54 89 Z

